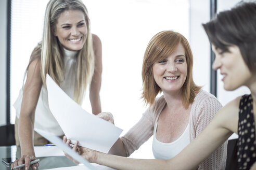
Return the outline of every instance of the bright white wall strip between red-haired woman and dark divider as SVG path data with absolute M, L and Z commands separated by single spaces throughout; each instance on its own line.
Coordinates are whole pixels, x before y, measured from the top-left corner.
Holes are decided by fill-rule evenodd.
M 210 1 L 190 0 L 190 46 L 194 55 L 193 78 L 210 92 L 210 43 L 202 23 L 210 20 Z

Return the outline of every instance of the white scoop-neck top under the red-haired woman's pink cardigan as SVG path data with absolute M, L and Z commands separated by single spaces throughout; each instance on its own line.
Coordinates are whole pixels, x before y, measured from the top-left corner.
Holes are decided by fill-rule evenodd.
M 189 124 L 183 134 L 171 143 L 162 143 L 156 138 L 157 121 L 153 132 L 152 152 L 156 159 L 171 159 L 180 153 L 189 143 Z

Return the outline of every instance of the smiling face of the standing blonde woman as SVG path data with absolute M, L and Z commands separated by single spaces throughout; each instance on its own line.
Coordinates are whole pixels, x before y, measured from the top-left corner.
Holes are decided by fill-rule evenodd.
M 55 25 L 54 35 L 64 48 L 72 51 L 81 50 L 87 38 L 84 13 L 80 10 L 62 12 Z

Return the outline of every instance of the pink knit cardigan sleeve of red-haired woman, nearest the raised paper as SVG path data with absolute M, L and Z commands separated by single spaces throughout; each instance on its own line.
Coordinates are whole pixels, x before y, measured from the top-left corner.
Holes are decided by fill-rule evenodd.
M 129 157 L 135 150 L 144 144 L 153 134 L 153 111 L 148 108 L 142 118 L 121 137 L 126 151 L 126 157 Z

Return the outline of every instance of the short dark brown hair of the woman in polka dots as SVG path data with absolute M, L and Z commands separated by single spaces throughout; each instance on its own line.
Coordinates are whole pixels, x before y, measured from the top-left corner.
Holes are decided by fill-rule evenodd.
M 229 46 L 238 46 L 250 72 L 256 72 L 256 3 L 240 2 L 202 25 L 216 48 L 228 52 Z

